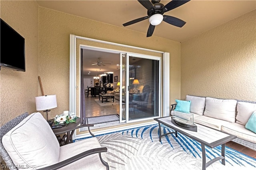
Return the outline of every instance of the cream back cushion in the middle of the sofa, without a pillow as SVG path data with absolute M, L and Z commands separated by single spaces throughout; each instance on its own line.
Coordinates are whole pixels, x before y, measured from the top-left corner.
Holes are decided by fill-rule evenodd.
M 206 97 L 204 115 L 234 123 L 236 117 L 236 100 Z

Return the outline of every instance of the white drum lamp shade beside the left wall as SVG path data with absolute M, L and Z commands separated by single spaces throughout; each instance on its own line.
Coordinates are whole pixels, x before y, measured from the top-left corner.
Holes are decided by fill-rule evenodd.
M 36 98 L 36 110 L 47 110 L 57 107 L 56 95 L 38 96 Z

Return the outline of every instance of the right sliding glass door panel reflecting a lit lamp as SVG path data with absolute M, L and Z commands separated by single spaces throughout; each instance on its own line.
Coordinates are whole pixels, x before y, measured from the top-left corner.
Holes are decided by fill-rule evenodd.
M 159 116 L 159 58 L 144 55 L 127 54 L 126 70 L 128 80 L 126 99 L 128 105 L 126 117 L 129 121 Z M 124 59 L 124 58 L 123 58 Z M 124 62 L 123 62 L 124 64 Z M 125 82 L 123 82 L 124 84 Z M 126 102 L 125 102 L 126 101 Z M 124 118 L 123 118 L 124 119 Z

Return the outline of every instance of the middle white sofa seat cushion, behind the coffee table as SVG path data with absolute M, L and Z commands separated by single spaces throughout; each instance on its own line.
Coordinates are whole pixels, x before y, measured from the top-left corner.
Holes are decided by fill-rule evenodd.
M 199 123 L 201 125 L 205 125 L 207 127 L 211 127 L 213 129 L 217 129 L 219 131 L 220 131 L 222 125 L 229 123 L 228 121 L 215 119 L 215 118 L 207 117 L 204 115 L 194 117 L 194 122 Z

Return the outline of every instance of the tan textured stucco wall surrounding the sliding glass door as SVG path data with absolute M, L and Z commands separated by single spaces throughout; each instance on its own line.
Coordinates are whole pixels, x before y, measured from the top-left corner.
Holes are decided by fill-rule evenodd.
M 82 37 L 132 45 L 170 53 L 171 100 L 180 97 L 180 43 L 123 27 L 88 20 L 48 8 L 39 7 L 39 75 L 44 92 L 56 94 L 58 107 L 51 117 L 69 109 L 69 38 L 70 33 Z M 177 76 L 178 75 L 178 76 Z M 173 77 L 176 77 L 175 79 Z M 174 93 L 174 94 L 172 94 Z M 40 94 L 40 89 L 39 89 Z

